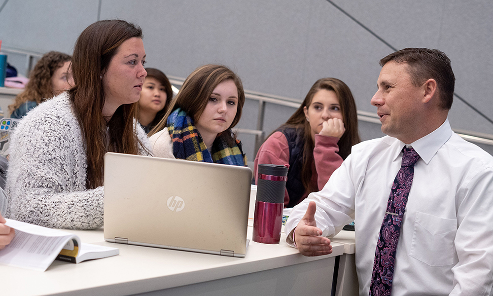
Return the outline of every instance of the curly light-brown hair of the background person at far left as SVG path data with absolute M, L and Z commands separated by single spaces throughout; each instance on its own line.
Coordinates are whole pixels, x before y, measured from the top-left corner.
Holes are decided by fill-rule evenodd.
M 70 62 L 71 58 L 70 55 L 58 51 L 45 53 L 31 71 L 26 89 L 15 97 L 14 104 L 9 105 L 8 110 L 13 112 L 27 101 L 35 101 L 40 104 L 58 95 L 54 92 L 51 77 L 65 62 Z

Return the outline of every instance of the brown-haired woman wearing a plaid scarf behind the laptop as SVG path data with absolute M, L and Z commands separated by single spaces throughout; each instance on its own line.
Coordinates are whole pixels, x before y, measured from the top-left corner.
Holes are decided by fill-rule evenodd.
M 244 104 L 242 81 L 230 69 L 195 69 L 149 134 L 154 156 L 245 166 L 241 142 L 231 131 Z

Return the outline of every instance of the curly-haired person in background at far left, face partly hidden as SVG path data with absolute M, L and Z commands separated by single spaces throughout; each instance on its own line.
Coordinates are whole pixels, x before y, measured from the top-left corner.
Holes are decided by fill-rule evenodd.
M 38 104 L 69 90 L 73 86 L 70 60 L 70 55 L 58 51 L 44 54 L 31 71 L 26 89 L 8 106 L 10 118 L 22 118 Z

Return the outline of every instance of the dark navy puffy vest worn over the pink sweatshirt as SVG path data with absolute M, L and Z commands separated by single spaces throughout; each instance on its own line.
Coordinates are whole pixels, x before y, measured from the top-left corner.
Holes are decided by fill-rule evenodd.
M 305 142 L 303 141 L 303 129 L 287 127 L 278 129 L 287 139 L 289 147 L 289 171 L 287 172 L 286 189 L 289 194 L 289 203 L 286 207 L 292 208 L 297 205 L 305 193 L 305 187 L 301 178 L 303 168 L 303 151 Z

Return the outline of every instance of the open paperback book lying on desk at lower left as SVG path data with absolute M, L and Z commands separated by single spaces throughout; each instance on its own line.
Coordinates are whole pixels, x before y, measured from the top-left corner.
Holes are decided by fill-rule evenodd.
M 72 233 L 5 219 L 15 237 L 0 250 L 0 264 L 45 271 L 55 259 L 79 263 L 120 254 L 118 248 L 85 244 Z

